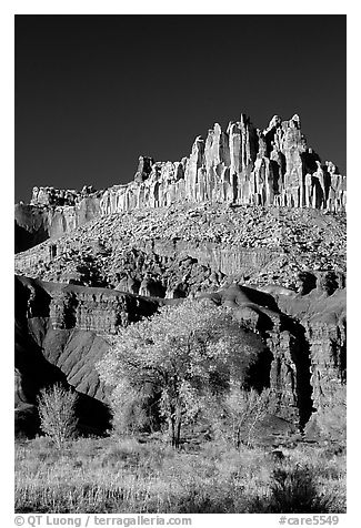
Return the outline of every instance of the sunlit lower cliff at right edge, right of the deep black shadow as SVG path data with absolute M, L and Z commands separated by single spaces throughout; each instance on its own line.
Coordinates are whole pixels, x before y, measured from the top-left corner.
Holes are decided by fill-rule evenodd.
M 320 434 L 320 416 L 323 413 L 332 415 L 332 408 L 340 405 L 340 395 L 345 388 L 347 291 L 343 278 L 335 273 L 321 274 L 318 276 L 317 287 L 308 295 L 298 295 L 292 299 L 278 297 L 280 308 L 299 321 L 304 328 L 304 339 L 309 347 L 313 407 L 307 426 L 310 436 L 314 435 L 314 426 L 317 435 Z M 345 405 L 344 400 L 342 405 Z M 345 416 L 342 418 L 345 419 Z M 338 435 L 345 435 L 342 426 Z

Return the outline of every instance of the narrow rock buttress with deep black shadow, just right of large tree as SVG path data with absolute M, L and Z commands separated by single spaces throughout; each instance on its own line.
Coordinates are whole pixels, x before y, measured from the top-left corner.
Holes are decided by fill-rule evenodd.
M 258 390 L 271 389 L 270 413 L 302 429 L 312 412 L 311 363 L 304 328 L 279 309 L 272 295 L 251 287 L 232 285 L 203 296 L 232 307 L 242 325 L 262 337 L 265 348 L 254 365 L 252 384 Z

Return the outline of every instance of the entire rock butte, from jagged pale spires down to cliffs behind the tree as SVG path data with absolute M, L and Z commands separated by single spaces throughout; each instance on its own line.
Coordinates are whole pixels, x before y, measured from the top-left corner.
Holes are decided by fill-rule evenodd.
M 270 412 L 318 424 L 345 383 L 344 212 L 345 176 L 308 146 L 298 115 L 264 130 L 243 114 L 215 123 L 189 158 L 140 156 L 128 184 L 34 187 L 16 206 L 21 413 L 61 380 L 82 395 L 84 423 L 106 428 L 94 364 L 112 336 L 205 296 L 263 339 L 250 383 L 270 387 Z

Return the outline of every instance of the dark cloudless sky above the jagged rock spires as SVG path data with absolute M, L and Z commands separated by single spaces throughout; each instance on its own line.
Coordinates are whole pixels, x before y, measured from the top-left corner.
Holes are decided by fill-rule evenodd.
M 16 201 L 132 180 L 241 112 L 345 172 L 345 16 L 16 16 Z

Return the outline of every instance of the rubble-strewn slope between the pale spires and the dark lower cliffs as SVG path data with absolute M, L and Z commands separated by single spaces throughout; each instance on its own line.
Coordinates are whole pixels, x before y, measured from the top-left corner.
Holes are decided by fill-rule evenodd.
M 232 281 L 298 291 L 330 273 L 344 282 L 345 215 L 225 204 L 114 213 L 19 253 L 16 272 L 159 297 Z

